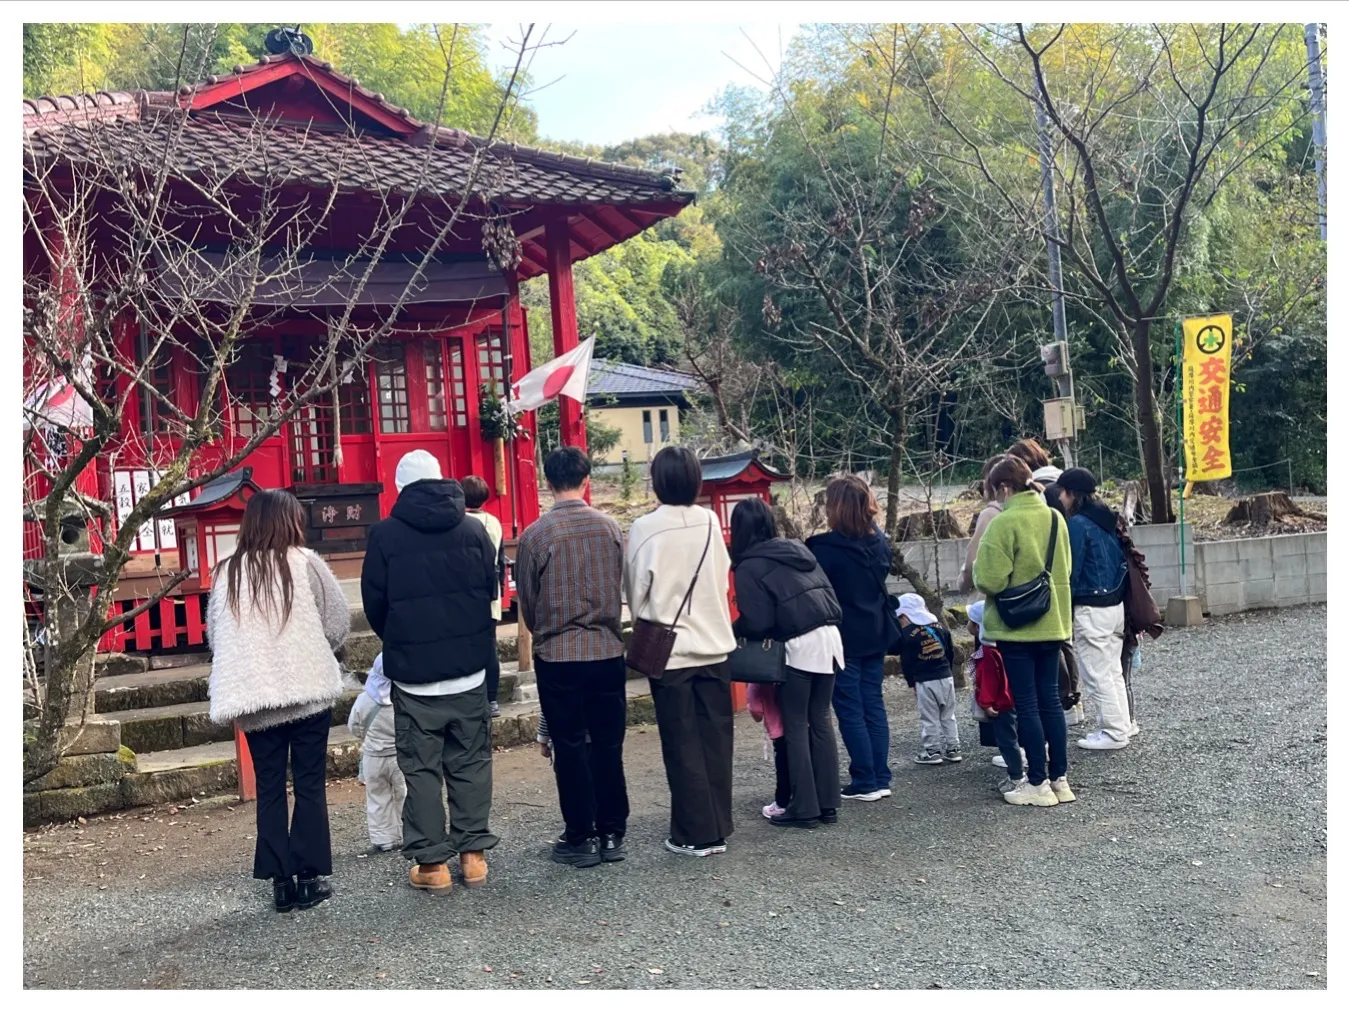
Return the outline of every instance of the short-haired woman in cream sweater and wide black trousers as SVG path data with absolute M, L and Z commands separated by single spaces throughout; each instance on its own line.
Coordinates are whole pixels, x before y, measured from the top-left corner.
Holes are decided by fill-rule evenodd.
M 733 830 L 733 711 L 726 664 L 735 649 L 727 598 L 731 560 L 716 514 L 693 505 L 703 487 L 703 468 L 689 449 L 666 447 L 657 453 L 652 487 L 661 505 L 633 521 L 623 582 L 634 621 L 676 627 L 665 673 L 652 679 L 670 785 L 665 849 L 688 857 L 724 854 Z M 681 609 L 691 584 L 689 605 Z

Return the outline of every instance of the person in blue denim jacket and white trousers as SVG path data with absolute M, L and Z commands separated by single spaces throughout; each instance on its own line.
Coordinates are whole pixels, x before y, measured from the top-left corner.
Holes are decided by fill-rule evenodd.
M 1095 730 L 1078 745 L 1122 749 L 1135 731 L 1121 664 L 1129 564 L 1116 533 L 1118 517 L 1097 498 L 1095 476 L 1085 467 L 1070 467 L 1058 484 L 1072 548 L 1072 644 L 1081 661 L 1083 702 L 1089 714 L 1095 711 Z

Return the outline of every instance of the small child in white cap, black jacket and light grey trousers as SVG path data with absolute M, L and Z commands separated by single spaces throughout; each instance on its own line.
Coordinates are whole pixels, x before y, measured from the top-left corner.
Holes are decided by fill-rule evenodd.
M 951 633 L 917 594 L 901 594 L 900 663 L 913 690 L 923 743 L 913 761 L 924 766 L 960 762 L 960 731 L 955 725 L 955 646 Z

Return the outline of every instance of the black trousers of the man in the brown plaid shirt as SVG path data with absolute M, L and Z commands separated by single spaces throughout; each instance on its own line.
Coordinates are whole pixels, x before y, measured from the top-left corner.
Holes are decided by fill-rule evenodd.
M 567 842 L 581 843 L 602 833 L 622 835 L 627 831 L 627 665 L 621 656 L 603 661 L 536 657 L 534 675 L 553 739 L 553 775 Z

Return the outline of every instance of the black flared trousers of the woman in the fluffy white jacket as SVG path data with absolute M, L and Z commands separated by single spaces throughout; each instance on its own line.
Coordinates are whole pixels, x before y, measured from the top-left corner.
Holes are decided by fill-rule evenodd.
M 328 837 L 328 729 L 324 710 L 290 723 L 248 731 L 248 752 L 258 781 L 258 845 L 254 878 L 333 873 Z M 287 827 L 286 762 L 295 784 L 295 811 Z

